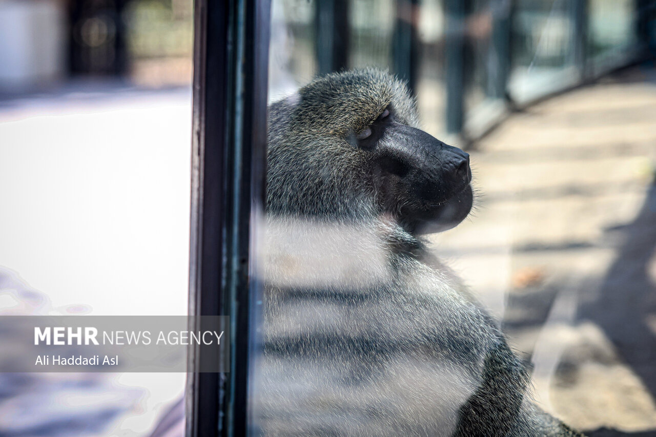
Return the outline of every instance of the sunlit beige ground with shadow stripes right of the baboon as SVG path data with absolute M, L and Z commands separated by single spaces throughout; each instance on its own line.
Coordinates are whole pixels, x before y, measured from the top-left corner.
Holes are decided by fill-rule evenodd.
M 474 149 L 478 207 L 435 250 L 502 318 L 545 409 L 656 436 L 656 70 L 513 114 Z

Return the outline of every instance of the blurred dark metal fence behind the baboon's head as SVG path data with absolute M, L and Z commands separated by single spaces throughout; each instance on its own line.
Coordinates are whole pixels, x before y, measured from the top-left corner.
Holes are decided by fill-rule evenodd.
M 274 34 L 272 62 L 273 68 L 289 70 L 298 84 L 346 68 L 389 68 L 417 94 L 428 131 L 477 138 L 509 108 L 653 56 L 655 5 L 651 0 L 280 0 L 273 2 L 273 28 L 278 24 L 287 31 L 290 59 L 276 66 Z M 274 81 L 274 94 L 275 87 Z

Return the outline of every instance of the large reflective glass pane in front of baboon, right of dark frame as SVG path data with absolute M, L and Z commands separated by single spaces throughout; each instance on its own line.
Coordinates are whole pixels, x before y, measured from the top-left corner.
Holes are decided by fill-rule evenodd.
M 270 86 L 297 88 L 269 106 L 256 430 L 656 430 L 653 69 L 508 113 L 506 92 L 581 81 L 583 3 L 303 3 L 302 54 L 293 4 L 273 5 Z

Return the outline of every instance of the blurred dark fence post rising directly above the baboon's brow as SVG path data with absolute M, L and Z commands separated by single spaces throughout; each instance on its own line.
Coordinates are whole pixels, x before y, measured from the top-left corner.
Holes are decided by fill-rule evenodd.
M 407 82 L 410 91 L 417 90 L 417 67 L 419 66 L 419 0 L 397 0 L 396 25 L 392 53 L 393 71 Z

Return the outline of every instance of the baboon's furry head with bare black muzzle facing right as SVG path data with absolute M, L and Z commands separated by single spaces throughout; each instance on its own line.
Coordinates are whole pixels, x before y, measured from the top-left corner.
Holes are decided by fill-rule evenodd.
M 329 74 L 270 106 L 268 211 L 392 217 L 407 232 L 456 226 L 472 207 L 469 156 L 420 130 L 401 81 Z

